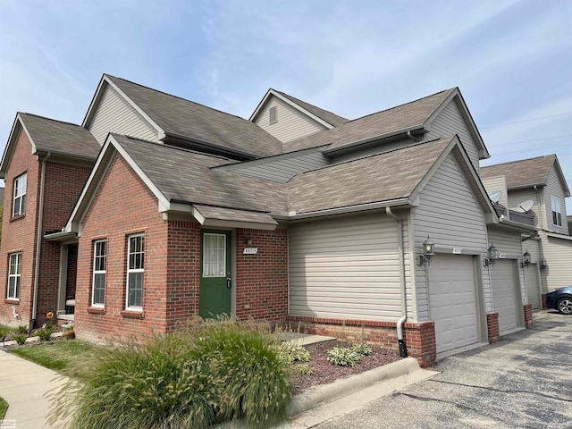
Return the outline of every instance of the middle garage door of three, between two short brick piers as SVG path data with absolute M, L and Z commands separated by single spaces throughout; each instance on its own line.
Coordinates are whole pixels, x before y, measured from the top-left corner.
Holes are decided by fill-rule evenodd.
M 502 335 L 518 326 L 515 261 L 510 259 L 496 261 L 491 267 L 491 283 L 492 307 L 499 313 L 499 331 Z

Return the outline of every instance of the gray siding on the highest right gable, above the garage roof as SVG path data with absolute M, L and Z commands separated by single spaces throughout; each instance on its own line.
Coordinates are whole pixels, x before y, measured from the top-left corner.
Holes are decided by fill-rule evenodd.
M 468 157 L 475 167 L 476 172 L 479 171 L 479 152 L 475 145 L 475 140 L 471 136 L 467 124 L 461 116 L 458 105 L 455 100 L 451 100 L 448 105 L 443 107 L 442 111 L 431 122 L 431 130 L 427 134 L 426 139 L 437 139 L 457 134 L 461 140 L 463 147 L 467 150 Z

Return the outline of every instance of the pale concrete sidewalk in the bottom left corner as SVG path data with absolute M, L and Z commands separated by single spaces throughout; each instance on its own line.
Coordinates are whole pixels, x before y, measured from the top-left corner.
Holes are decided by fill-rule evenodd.
M 0 428 L 56 428 L 46 422 L 47 391 L 62 386 L 67 378 L 44 366 L 0 350 L 0 397 L 8 402 L 8 412 Z

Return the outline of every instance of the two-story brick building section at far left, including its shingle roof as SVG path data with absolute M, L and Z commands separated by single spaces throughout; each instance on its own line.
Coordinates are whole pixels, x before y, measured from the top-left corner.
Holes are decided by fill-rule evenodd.
M 16 115 L 0 164 L 10 196 L 0 248 L 4 323 L 42 324 L 47 312 L 64 314 L 66 298 L 75 295 L 75 270 L 66 281 L 61 267 L 75 267 L 77 244 L 61 248 L 44 236 L 69 218 L 98 152 L 96 139 L 78 125 Z

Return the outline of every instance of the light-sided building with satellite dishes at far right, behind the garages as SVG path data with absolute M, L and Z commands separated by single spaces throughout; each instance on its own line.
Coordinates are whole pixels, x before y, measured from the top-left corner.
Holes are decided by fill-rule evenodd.
M 532 218 L 540 231 L 523 235 L 523 248 L 531 255 L 525 269 L 528 301 L 543 307 L 548 290 L 570 285 L 572 237 L 565 198 L 570 190 L 555 155 L 482 167 L 485 188 L 502 192 L 500 206 L 519 219 Z

